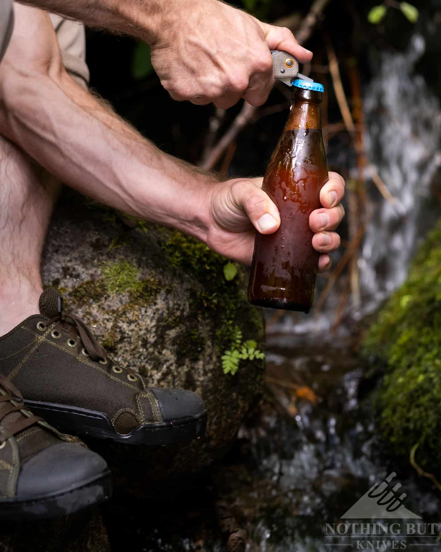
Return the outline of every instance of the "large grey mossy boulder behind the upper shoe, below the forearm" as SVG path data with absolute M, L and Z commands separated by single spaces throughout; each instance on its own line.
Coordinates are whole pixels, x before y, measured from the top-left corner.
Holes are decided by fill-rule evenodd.
M 207 466 L 228 449 L 260 397 L 262 359 L 240 360 L 235 375 L 223 373 L 222 356 L 238 347 L 238 335 L 264 347 L 262 311 L 246 298 L 248 276 L 237 266 L 228 281 L 227 262 L 178 231 L 72 192 L 57 206 L 42 262 L 44 285 L 58 288 L 65 309 L 82 316 L 109 353 L 149 385 L 195 391 L 208 410 L 207 437 L 195 443 L 152 450 L 88 442 L 121 480 L 132 469 L 160 479 Z

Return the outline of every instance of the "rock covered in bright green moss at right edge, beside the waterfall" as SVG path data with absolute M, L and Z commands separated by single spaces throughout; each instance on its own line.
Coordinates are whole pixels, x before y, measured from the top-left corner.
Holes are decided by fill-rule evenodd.
M 384 375 L 373 400 L 389 453 L 438 469 L 441 460 L 441 221 L 406 282 L 381 309 L 363 355 Z

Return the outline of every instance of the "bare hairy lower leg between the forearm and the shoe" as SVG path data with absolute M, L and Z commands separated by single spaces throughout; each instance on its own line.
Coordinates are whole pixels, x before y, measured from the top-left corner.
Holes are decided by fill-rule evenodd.
M 0 136 L 0 336 L 39 312 L 41 250 L 59 188 Z

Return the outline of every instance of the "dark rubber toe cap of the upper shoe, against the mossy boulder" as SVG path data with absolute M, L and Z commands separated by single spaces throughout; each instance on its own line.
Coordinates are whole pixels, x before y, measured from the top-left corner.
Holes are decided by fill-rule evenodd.
M 199 395 L 183 389 L 150 388 L 157 398 L 164 422 L 205 414 L 205 404 Z

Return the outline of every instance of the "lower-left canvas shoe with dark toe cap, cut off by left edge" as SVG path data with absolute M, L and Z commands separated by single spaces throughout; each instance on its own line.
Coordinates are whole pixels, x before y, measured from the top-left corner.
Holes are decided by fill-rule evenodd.
M 67 516 L 110 494 L 103 458 L 26 410 L 0 375 L 0 521 Z

